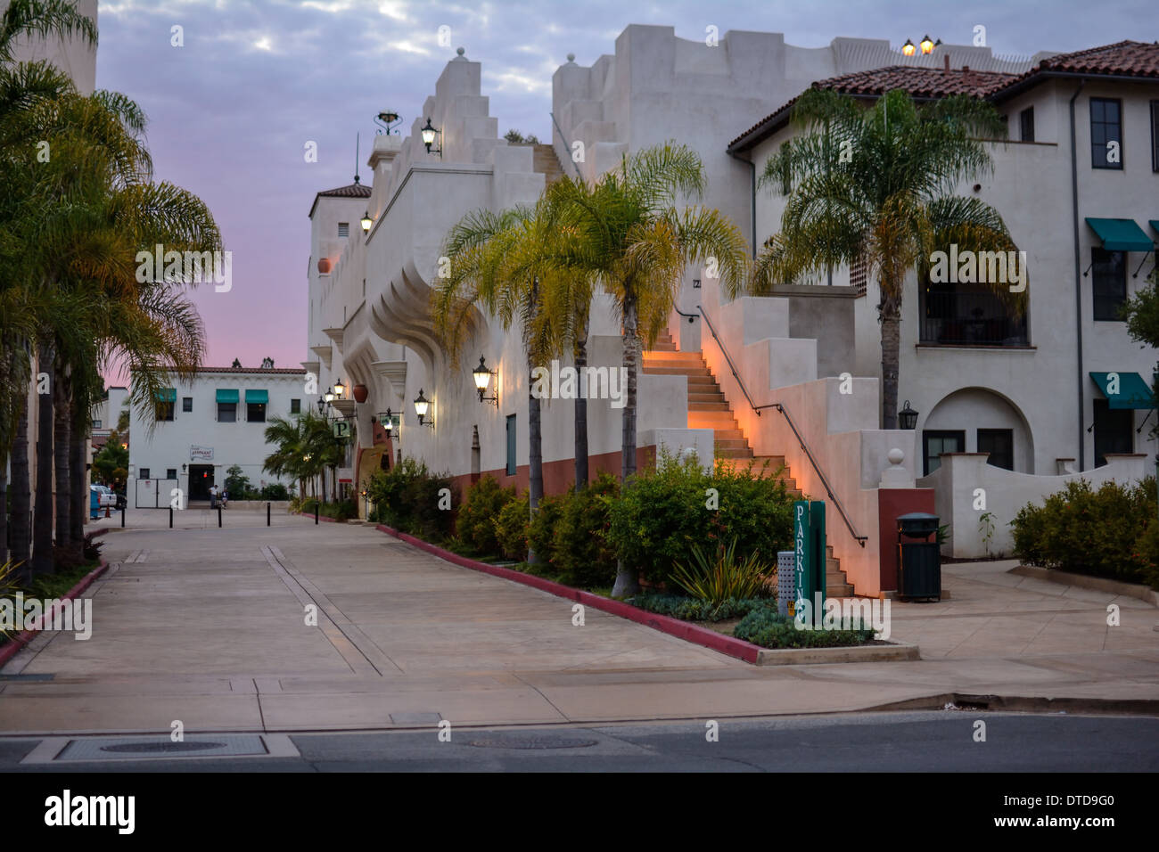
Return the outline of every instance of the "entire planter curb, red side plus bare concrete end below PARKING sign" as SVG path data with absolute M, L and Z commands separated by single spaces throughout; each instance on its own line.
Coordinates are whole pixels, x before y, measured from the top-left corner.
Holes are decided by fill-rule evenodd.
M 716 631 L 707 627 L 688 624 L 687 621 L 680 621 L 679 619 L 670 618 L 668 616 L 647 612 L 626 604 L 622 600 L 613 600 L 612 598 L 592 595 L 589 591 L 573 589 L 570 585 L 563 585 L 562 583 L 556 583 L 552 580 L 537 577 L 532 574 L 524 574 L 523 571 L 517 571 L 511 568 L 503 568 L 496 565 L 488 565 L 487 562 L 479 562 L 474 559 L 468 559 L 467 556 L 460 556 L 458 553 L 444 551 L 442 547 L 437 547 L 429 541 L 423 541 L 414 536 L 399 532 L 394 527 L 387 526 L 386 524 L 378 524 L 374 529 L 380 532 L 385 532 L 388 536 L 394 536 L 396 539 L 406 541 L 409 545 L 414 545 L 415 547 L 427 551 L 428 553 L 457 565 L 460 568 L 483 571 L 484 574 L 490 574 L 491 576 L 510 580 L 511 582 L 522 583 L 523 585 L 530 585 L 534 589 L 546 591 L 561 598 L 576 600 L 584 606 L 592 607 L 593 610 L 626 618 L 629 621 L 635 621 L 636 624 L 641 624 L 646 627 L 651 627 L 654 631 L 666 633 L 671 636 L 676 636 L 677 639 L 683 639 L 686 642 L 692 642 L 693 645 L 699 645 L 756 665 L 881 663 L 895 660 L 921 658 L 918 651 L 918 646 L 909 643 L 894 643 L 891 646 L 877 645 L 853 648 L 761 648 L 752 642 L 745 642 L 736 639 L 735 636 L 727 636 L 723 633 L 717 633 Z

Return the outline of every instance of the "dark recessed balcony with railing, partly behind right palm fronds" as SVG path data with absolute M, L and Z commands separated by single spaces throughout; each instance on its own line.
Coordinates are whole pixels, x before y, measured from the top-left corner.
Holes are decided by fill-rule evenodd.
M 920 294 L 919 343 L 953 347 L 1028 347 L 1027 315 L 994 293 L 961 285 L 927 285 Z

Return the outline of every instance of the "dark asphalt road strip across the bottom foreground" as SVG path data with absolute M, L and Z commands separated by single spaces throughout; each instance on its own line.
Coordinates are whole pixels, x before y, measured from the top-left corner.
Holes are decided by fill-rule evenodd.
M 985 722 L 985 741 L 976 740 Z M 1159 719 L 950 709 L 624 726 L 293 734 L 296 757 L 21 763 L 38 738 L 0 738 L 2 772 L 1154 772 Z M 188 736 L 221 740 L 228 735 Z M 444 735 L 445 737 L 445 735 Z M 140 737 L 138 737 L 139 740 Z M 51 751 L 51 749 L 49 749 Z

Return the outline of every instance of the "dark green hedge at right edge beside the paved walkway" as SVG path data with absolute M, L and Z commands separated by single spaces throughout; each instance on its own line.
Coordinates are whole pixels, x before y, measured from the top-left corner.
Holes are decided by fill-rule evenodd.
M 1067 482 L 1011 523 L 1014 555 L 1027 565 L 1159 588 L 1156 480 L 1135 486 Z

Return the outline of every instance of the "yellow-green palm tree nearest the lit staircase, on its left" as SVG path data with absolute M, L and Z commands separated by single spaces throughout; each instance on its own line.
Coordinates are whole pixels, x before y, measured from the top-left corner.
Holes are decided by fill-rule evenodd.
M 636 471 L 636 372 L 642 342 L 668 326 L 690 263 L 716 260 L 721 284 L 736 290 L 748 275 L 744 236 L 719 210 L 685 205 L 706 181 L 700 156 L 685 145 L 657 145 L 625 156 L 592 184 L 570 177 L 548 189 L 553 205 L 575 228 L 564 268 L 578 267 L 612 296 L 624 328 L 627 393 L 620 473 Z M 639 588 L 632 566 L 617 570 L 614 596 Z

